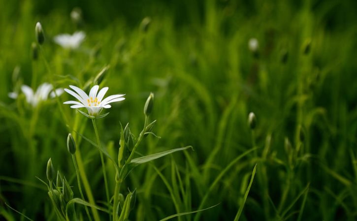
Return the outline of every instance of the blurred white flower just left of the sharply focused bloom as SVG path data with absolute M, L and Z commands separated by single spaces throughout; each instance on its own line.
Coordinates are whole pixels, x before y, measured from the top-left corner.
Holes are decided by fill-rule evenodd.
M 48 95 L 50 95 L 51 98 L 55 97 L 56 94 L 57 96 L 61 95 L 63 93 L 62 88 L 56 89 L 56 94 L 53 92 L 53 87 L 49 83 L 43 83 L 40 86 L 38 86 L 37 90 L 35 93 L 33 93 L 33 90 L 31 87 L 27 85 L 22 85 L 21 86 L 21 91 L 24 93 L 26 96 L 26 101 L 32 105 L 32 107 L 37 106 L 37 104 L 41 101 L 45 101 L 48 99 Z M 15 92 L 11 92 L 8 94 L 9 97 L 16 99 L 18 94 Z

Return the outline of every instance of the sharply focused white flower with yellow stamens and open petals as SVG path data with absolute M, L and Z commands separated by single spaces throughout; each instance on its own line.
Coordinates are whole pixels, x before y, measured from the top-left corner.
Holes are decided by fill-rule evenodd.
M 70 100 L 64 102 L 64 104 L 74 104 L 70 106 L 71 108 L 85 107 L 88 110 L 89 116 L 92 117 L 97 117 L 103 108 L 110 108 L 111 106 L 109 105 L 109 103 L 117 102 L 125 99 L 124 97 L 122 97 L 124 95 L 110 95 L 105 99 L 103 99 L 105 93 L 109 89 L 108 87 L 102 88 L 98 92 L 99 86 L 95 85 L 89 92 L 89 95 L 87 95 L 82 89 L 78 87 L 72 85 L 69 85 L 69 87 L 73 89 L 73 91 L 69 89 L 65 89 L 65 92 L 74 96 L 80 102 Z

